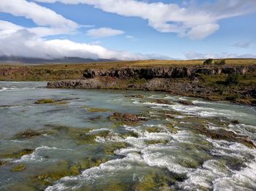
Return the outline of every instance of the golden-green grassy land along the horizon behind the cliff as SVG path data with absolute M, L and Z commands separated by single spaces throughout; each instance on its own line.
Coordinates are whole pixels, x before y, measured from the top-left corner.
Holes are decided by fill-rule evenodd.
M 227 65 L 256 64 L 256 59 L 225 59 Z M 44 65 L 10 65 L 0 63 L 1 81 L 54 81 L 61 79 L 80 79 L 86 69 L 111 69 L 120 67 L 169 67 L 199 66 L 204 60 L 191 61 L 116 61 L 104 63 L 81 64 L 44 64 Z

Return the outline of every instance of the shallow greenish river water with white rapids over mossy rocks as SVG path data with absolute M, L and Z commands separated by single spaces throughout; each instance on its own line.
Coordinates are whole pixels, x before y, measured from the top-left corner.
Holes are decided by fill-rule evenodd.
M 166 93 L 45 86 L 0 82 L 0 190 L 256 190 L 256 149 L 194 129 L 232 130 L 256 144 L 255 107 Z M 132 96 L 137 94 L 143 97 Z M 34 104 L 42 98 L 67 103 Z M 113 112 L 146 120 L 116 122 L 108 118 Z M 18 137 L 29 129 L 39 136 Z M 92 141 L 80 138 L 91 134 L 97 134 Z M 18 155 L 23 149 L 31 152 Z M 12 171 L 17 165 L 25 168 Z

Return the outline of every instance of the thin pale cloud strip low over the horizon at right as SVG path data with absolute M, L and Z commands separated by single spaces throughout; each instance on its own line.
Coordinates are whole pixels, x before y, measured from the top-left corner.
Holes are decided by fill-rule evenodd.
M 231 54 L 227 52 L 222 52 L 220 54 L 187 52 L 185 54 L 185 57 L 188 60 L 192 60 L 192 59 L 207 59 L 207 58 L 256 58 L 256 55 L 254 54 L 238 55 L 238 54 Z

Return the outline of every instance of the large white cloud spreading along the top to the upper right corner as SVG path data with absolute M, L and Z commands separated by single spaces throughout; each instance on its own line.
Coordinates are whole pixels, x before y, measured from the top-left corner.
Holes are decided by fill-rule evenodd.
M 89 4 L 105 12 L 127 17 L 141 17 L 157 31 L 177 33 L 191 39 L 203 39 L 219 29 L 217 22 L 224 18 L 256 12 L 255 0 L 218 0 L 214 4 L 148 3 L 135 0 L 35 0 L 64 4 Z M 193 1 L 192 1 L 193 2 Z

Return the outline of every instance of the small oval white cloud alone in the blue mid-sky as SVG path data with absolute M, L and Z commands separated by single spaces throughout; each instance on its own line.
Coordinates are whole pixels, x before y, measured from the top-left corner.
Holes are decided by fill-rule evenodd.
M 87 31 L 86 34 L 94 38 L 103 38 L 108 36 L 116 36 L 119 34 L 124 34 L 124 31 L 116 30 L 113 28 L 95 28 Z

